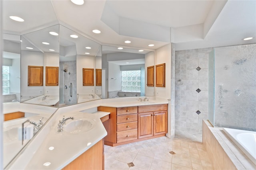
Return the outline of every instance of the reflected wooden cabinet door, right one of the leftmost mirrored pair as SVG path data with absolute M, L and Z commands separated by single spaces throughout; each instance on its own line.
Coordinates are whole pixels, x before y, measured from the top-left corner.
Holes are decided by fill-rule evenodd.
M 59 67 L 46 66 L 45 67 L 45 85 L 58 86 L 59 85 Z

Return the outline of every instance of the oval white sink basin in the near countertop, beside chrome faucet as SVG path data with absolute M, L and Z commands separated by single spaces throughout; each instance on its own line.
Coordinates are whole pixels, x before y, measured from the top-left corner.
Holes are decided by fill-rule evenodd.
M 73 121 L 66 123 L 66 125 L 64 126 L 64 131 L 68 133 L 84 133 L 92 129 L 93 126 L 93 119 L 74 119 Z

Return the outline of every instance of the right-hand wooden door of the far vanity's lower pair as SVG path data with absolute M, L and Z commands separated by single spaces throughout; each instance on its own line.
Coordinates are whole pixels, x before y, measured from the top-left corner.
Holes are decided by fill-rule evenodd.
M 154 135 L 167 133 L 167 111 L 156 111 L 154 116 Z

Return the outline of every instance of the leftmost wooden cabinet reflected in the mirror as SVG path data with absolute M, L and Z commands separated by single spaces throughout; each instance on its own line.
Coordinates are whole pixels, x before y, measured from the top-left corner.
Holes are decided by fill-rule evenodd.
M 28 66 L 28 86 L 43 86 L 43 66 Z

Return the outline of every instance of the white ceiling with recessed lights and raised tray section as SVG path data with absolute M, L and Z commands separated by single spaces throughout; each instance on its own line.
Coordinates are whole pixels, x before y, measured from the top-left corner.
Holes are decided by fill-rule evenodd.
M 170 42 L 176 50 L 256 43 L 255 0 L 85 0 L 82 6 L 70 0 L 1 2 L 4 33 L 22 35 L 60 23 L 103 45 L 144 50 Z M 151 43 L 155 46 L 148 47 Z

